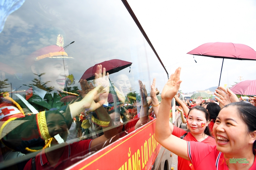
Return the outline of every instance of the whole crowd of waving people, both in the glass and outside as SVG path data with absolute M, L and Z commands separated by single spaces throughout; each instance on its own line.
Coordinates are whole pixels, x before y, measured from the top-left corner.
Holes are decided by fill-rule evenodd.
M 113 74 L 110 81 L 101 64 L 96 65 L 93 81 L 80 80 L 79 94 L 68 92 L 65 60 L 73 57 L 64 51 L 64 37 L 56 35 L 56 45 L 28 56 L 27 66 L 35 78 L 26 94 L 16 94 L 18 100 L 9 93 L 0 95 L 0 134 L 14 127 L 1 137 L 0 162 L 40 151 L 12 168 L 64 169 L 156 118 L 155 139 L 178 155 L 179 170 L 256 169 L 256 97 L 240 102 L 230 89 L 220 87 L 213 102 L 201 97 L 181 100 L 178 68 L 165 84 L 160 104 L 156 78 L 147 100 L 141 80 L 136 94 L 126 74 Z M 5 73 L 13 72 L 3 64 L 2 70 L 1 81 Z M 188 131 L 169 121 L 173 98 Z M 229 161 L 234 158 L 243 161 Z

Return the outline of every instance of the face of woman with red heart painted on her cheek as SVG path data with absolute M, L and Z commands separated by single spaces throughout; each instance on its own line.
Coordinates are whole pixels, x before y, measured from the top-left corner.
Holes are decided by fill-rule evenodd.
M 193 109 L 189 112 L 187 123 L 188 129 L 192 134 L 202 134 L 204 133 L 204 129 L 208 126 L 204 112 L 197 109 Z

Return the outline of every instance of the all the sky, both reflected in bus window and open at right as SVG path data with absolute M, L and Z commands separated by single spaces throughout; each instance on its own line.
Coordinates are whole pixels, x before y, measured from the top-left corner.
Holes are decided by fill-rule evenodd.
M 194 92 L 218 86 L 222 59 L 188 55 L 208 42 L 241 43 L 256 49 L 256 2 L 253 0 L 128 0 L 132 10 L 154 45 L 169 75 L 182 67 L 180 90 Z M 0 33 L 0 60 L 20 68 L 23 82 L 32 77 L 26 59 L 35 50 L 56 43 L 56 36 L 44 35 L 45 29 L 60 27 L 65 45 L 75 41 L 66 52 L 69 74 L 79 80 L 89 67 L 110 59 L 132 62 L 124 71 L 138 90 L 140 79 L 150 89 L 154 77 L 162 90 L 167 81 L 160 63 L 122 1 L 26 0 L 6 20 Z M 39 37 L 38 37 L 39 36 Z M 40 37 L 41 36 L 41 37 Z M 25 62 L 25 63 L 24 63 Z M 22 63 L 22 64 L 21 64 Z M 256 61 L 225 59 L 221 86 L 254 80 Z M 27 78 L 26 78 L 26 77 Z M 14 84 L 19 87 L 19 84 Z M 79 86 L 78 81 L 74 86 Z M 23 87 L 22 87 L 23 88 Z M 26 88 L 26 87 L 25 87 Z

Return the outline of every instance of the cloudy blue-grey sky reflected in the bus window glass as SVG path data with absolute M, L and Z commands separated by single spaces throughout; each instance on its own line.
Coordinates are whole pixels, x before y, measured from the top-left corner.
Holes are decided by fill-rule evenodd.
M 33 83 L 32 80 L 38 78 L 36 75 L 42 74 L 31 70 L 34 54 L 37 54 L 34 52 L 47 47 L 42 54 L 49 53 L 48 47 L 56 45 L 59 34 L 64 37 L 64 46 L 75 42 L 65 48 L 68 56 L 74 59 L 65 60 L 68 67 L 60 68 L 66 70 L 65 76 L 74 76 L 75 84 L 71 87 L 80 87 L 78 80 L 88 68 L 111 59 L 132 63 L 131 67 L 110 75 L 112 80 L 117 74 L 126 74 L 132 91 L 138 92 L 138 80 L 142 80 L 148 91 L 154 77 L 158 78 L 160 90 L 167 81 L 164 69 L 121 0 L 26 0 L 8 16 L 0 33 L 0 62 L 10 64 L 21 75 L 19 81 L 12 75 L 6 76 L 8 83 L 12 83 L 6 91 L 25 90 L 28 86 L 24 84 Z M 41 62 L 43 66 L 52 64 L 51 59 Z M 63 63 L 59 60 L 59 64 Z M 63 78 L 61 74 L 49 71 L 43 77 L 55 82 Z

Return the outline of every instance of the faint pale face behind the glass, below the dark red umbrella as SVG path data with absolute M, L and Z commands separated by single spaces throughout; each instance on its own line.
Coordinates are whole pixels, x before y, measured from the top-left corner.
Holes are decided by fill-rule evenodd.
M 125 96 L 130 92 L 131 83 L 128 76 L 126 76 L 126 74 L 121 74 L 119 76 L 116 76 L 116 81 L 114 81 L 114 85 L 117 88 L 121 87 Z

